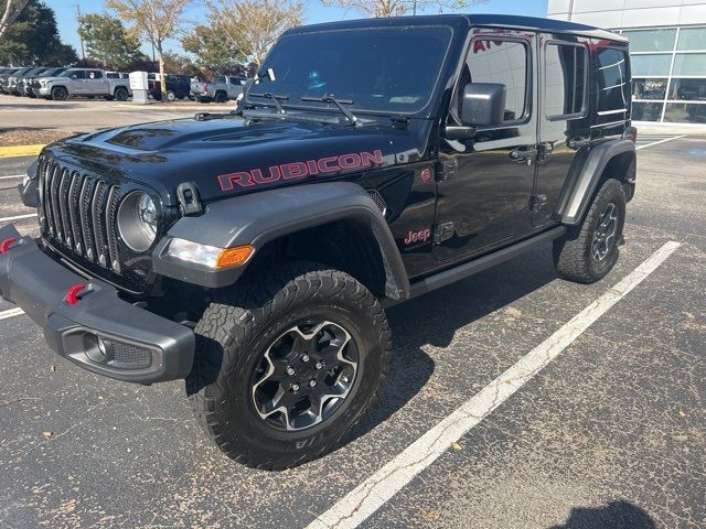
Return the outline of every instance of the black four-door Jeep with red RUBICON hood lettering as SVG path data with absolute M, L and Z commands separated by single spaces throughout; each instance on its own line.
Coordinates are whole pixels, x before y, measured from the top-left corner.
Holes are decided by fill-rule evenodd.
M 0 228 L 0 292 L 52 349 L 186 379 L 228 456 L 334 449 L 388 373 L 385 307 L 553 242 L 590 283 L 635 186 L 628 41 L 495 15 L 297 28 L 237 112 L 46 147 Z

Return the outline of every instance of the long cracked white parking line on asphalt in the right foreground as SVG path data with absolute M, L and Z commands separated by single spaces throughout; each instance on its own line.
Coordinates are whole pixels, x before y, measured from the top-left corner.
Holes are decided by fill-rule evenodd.
M 514 366 L 464 402 L 393 461 L 346 494 L 312 521 L 308 529 L 355 528 L 402 490 L 495 408 L 537 375 L 601 315 L 648 278 L 680 247 L 670 241 L 612 289 L 535 347 Z

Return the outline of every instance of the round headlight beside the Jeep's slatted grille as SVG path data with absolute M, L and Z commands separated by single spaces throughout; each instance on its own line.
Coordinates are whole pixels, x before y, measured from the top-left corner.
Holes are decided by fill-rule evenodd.
M 157 239 L 157 206 L 147 193 L 135 191 L 118 208 L 118 231 L 133 251 L 147 251 Z

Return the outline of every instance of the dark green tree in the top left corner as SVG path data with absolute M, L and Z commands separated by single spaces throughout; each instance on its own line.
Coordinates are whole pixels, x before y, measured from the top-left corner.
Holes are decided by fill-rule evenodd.
M 58 37 L 54 11 L 42 0 L 30 0 L 0 39 L 0 64 L 63 66 L 76 61 L 75 50 Z

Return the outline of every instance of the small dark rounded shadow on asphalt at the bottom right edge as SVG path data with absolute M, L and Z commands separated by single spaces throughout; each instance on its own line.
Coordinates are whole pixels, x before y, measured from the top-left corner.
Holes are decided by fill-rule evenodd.
M 605 507 L 576 507 L 569 519 L 549 529 L 654 529 L 654 520 L 640 507 L 624 500 Z

